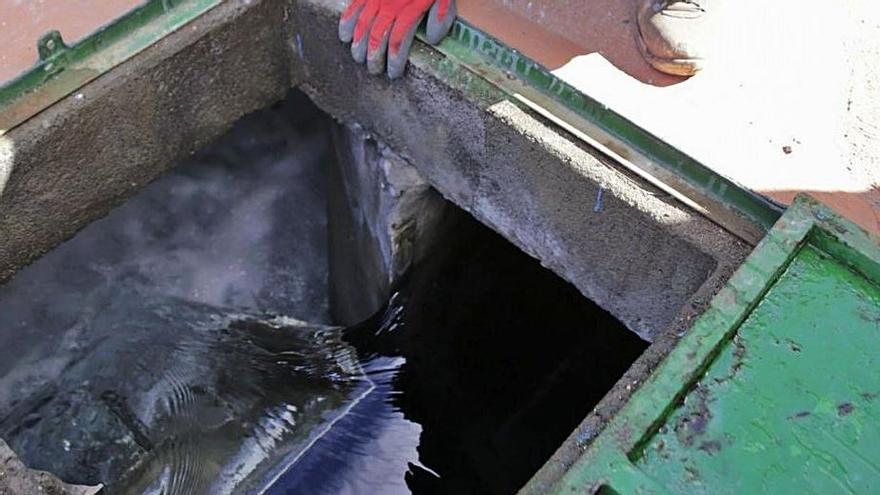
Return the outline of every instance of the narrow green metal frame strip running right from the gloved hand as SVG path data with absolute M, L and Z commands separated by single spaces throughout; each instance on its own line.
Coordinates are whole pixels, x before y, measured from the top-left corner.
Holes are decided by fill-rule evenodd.
M 548 110 L 570 130 L 591 138 L 590 144 L 690 199 L 696 203 L 691 206 L 753 244 L 782 214 L 781 206 L 715 173 L 467 22 L 456 21 L 437 49 L 514 100 Z

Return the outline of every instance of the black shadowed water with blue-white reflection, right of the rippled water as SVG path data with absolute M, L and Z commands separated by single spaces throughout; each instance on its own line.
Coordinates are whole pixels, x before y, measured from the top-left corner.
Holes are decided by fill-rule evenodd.
M 387 309 L 346 331 L 375 389 L 270 493 L 515 493 L 644 350 L 460 216 Z

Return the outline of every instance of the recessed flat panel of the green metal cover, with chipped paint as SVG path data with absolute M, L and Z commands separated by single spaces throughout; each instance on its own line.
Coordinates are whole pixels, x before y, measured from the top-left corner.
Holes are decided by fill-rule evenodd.
M 876 492 L 878 321 L 880 289 L 805 247 L 636 465 L 676 493 Z

